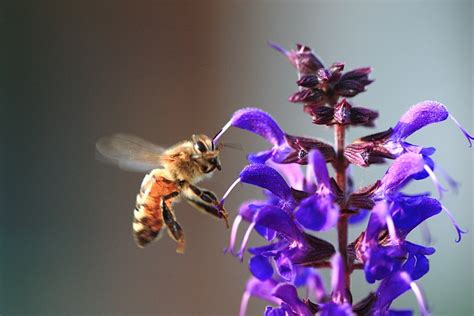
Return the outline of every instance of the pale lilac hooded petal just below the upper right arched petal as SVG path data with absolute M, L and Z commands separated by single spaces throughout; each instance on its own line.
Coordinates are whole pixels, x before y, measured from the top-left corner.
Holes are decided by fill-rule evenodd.
M 415 153 L 406 153 L 395 159 L 393 164 L 383 176 L 380 187 L 385 194 L 401 188 L 414 174 L 424 170 L 425 161 L 423 156 Z

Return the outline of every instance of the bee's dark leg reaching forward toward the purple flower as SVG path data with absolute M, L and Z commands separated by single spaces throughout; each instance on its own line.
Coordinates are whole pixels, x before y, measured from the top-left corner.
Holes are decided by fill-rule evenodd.
M 183 190 L 188 201 L 199 210 L 218 218 L 223 218 L 229 228 L 229 213 L 220 205 L 217 196 L 208 190 L 201 189 L 193 184 L 188 185 L 188 190 Z

